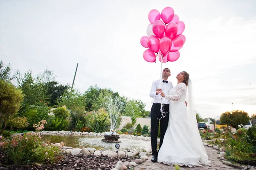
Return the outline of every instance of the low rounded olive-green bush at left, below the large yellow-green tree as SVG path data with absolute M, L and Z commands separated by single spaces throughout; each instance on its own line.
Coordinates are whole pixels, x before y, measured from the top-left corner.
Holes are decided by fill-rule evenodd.
M 11 130 L 20 130 L 25 127 L 29 126 L 28 118 L 26 117 L 15 117 L 15 118 L 10 118 L 7 121 L 7 126 Z

